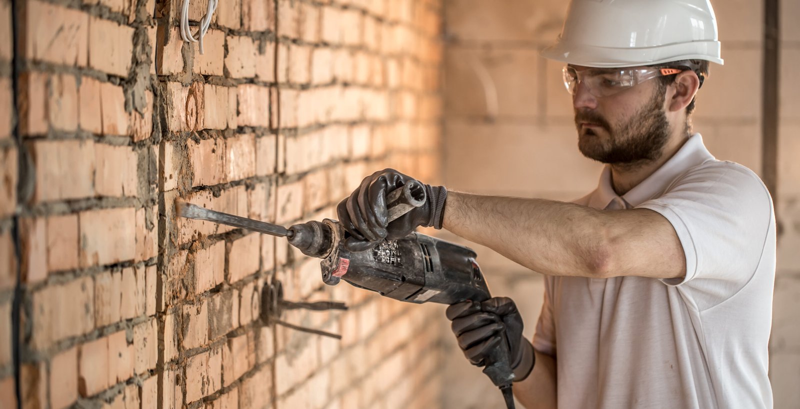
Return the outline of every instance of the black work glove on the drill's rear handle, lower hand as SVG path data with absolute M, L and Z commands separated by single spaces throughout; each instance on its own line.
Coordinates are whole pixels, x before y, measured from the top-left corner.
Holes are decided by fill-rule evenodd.
M 526 379 L 534 368 L 534 346 L 522 336 L 522 316 L 510 298 L 494 297 L 482 303 L 467 300 L 450 305 L 446 314 L 447 319 L 453 321 L 450 328 L 458 347 L 473 365 L 490 364 L 494 350 L 501 342 L 506 342 L 514 382 Z

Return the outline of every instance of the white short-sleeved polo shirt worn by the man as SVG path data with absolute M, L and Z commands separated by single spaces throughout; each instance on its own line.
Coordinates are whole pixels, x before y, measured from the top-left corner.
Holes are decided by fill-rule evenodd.
M 695 134 L 622 197 L 606 167 L 575 203 L 661 213 L 686 277 L 545 277 L 534 347 L 556 357 L 558 407 L 772 407 L 775 220 L 758 176 Z

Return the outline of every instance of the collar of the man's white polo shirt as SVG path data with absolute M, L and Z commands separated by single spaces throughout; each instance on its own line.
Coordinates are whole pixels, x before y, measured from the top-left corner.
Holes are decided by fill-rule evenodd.
M 695 133 L 664 165 L 622 197 L 614 192 L 614 187 L 611 185 L 611 168 L 606 165 L 600 174 L 598 188 L 590 198 L 589 205 L 593 208 L 636 207 L 663 194 L 675 178 L 690 168 L 710 160 L 714 160 L 714 155 L 706 149 L 706 145 L 703 145 L 702 136 Z

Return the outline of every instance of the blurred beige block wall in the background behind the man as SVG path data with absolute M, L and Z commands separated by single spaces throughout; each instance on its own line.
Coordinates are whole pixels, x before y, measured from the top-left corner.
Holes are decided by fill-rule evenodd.
M 444 177 L 473 193 L 571 201 L 593 190 L 602 165 L 578 151 L 562 63 L 538 56 L 561 30 L 568 2 L 445 2 Z M 764 1 L 712 1 L 724 66 L 712 64 L 698 93 L 694 130 L 722 160 L 753 169 L 775 200 L 780 236 L 770 342 L 775 407 L 800 405 L 800 2 L 780 2 L 780 31 L 765 23 Z M 778 77 L 765 66 L 766 34 L 777 34 Z M 777 86 L 778 104 L 765 97 Z M 767 92 L 769 94 L 769 92 Z M 766 114 L 765 114 L 766 109 Z M 777 109 L 777 115 L 770 117 Z M 765 128 L 765 117 L 766 124 Z M 777 121 L 776 121 L 777 120 Z M 771 126 L 777 125 L 777 133 Z M 450 236 L 453 240 L 457 237 Z M 542 276 L 490 249 L 478 262 L 495 295 L 510 296 L 532 336 Z M 536 251 L 531 249 L 531 251 Z M 447 328 L 443 329 L 446 331 Z M 445 407 L 501 407 L 484 375 L 445 337 Z

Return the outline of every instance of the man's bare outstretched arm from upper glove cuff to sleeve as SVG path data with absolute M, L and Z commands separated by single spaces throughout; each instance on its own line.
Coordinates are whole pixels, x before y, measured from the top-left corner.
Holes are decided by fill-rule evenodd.
M 443 226 L 550 276 L 686 275 L 678 234 L 669 220 L 646 208 L 598 210 L 451 191 Z

